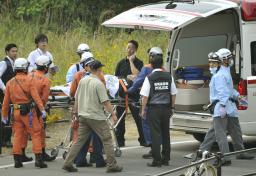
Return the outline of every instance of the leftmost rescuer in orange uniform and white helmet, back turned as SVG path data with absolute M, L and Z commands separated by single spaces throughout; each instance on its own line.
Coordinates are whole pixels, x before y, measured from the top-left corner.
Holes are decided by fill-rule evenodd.
M 24 131 L 27 130 L 32 137 L 33 152 L 35 153 L 36 157 L 35 166 L 39 168 L 46 168 L 47 165 L 42 160 L 42 125 L 37 118 L 34 108 L 35 104 L 40 109 L 42 118 L 46 117 L 46 112 L 35 85 L 31 81 L 31 78 L 27 75 L 28 67 L 29 63 L 24 58 L 18 58 L 14 62 L 14 71 L 16 75 L 6 85 L 2 107 L 2 121 L 3 123 L 7 122 L 9 106 L 12 103 L 14 108 L 14 167 L 20 168 L 23 166 L 21 162 L 22 140 L 24 137 Z

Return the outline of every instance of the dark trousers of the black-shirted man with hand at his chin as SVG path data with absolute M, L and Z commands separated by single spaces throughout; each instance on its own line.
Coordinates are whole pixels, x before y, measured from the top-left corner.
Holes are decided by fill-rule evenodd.
M 144 140 L 144 135 L 143 135 L 143 129 L 142 129 L 142 122 L 141 122 L 141 117 L 139 115 L 140 113 L 140 109 L 136 106 L 133 105 L 129 105 L 130 111 L 132 113 L 132 117 L 136 123 L 137 129 L 138 129 L 138 133 L 139 133 L 139 138 L 138 141 L 140 142 L 140 144 L 145 143 Z M 117 118 L 119 119 L 123 112 L 125 111 L 125 107 L 120 107 L 118 106 L 116 108 L 116 112 L 117 112 Z M 119 144 L 119 146 L 123 146 L 125 139 L 124 139 L 124 134 L 125 134 L 125 116 L 124 115 L 123 119 L 120 121 L 120 123 L 118 124 L 117 128 L 116 128 L 116 138 L 117 138 L 117 142 Z

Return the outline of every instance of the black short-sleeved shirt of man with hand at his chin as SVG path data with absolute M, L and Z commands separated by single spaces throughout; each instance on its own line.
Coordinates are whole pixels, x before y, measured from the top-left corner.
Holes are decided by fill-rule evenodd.
M 143 62 L 137 57 L 135 57 L 133 63 L 134 63 L 134 66 L 139 71 L 143 67 Z M 131 74 L 132 74 L 132 71 L 131 71 L 130 61 L 127 58 L 120 60 L 116 66 L 115 76 L 119 78 L 127 78 L 127 76 Z

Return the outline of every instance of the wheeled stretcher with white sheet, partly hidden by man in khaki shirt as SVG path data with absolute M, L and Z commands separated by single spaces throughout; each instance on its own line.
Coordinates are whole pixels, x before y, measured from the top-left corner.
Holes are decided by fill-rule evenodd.
M 106 77 L 105 77 L 106 79 Z M 116 124 L 113 124 L 111 120 L 111 114 L 107 114 L 106 112 L 106 121 L 110 127 L 111 135 L 113 139 L 113 145 L 115 150 L 115 156 L 120 157 L 122 155 L 122 152 L 120 150 L 120 147 L 118 146 L 117 138 L 115 135 L 115 130 L 121 120 L 125 117 L 125 114 L 128 110 L 129 105 L 133 106 L 140 106 L 139 101 L 135 101 L 134 99 L 130 99 L 127 94 L 127 88 L 130 86 L 130 84 L 127 83 L 126 80 L 123 79 L 117 79 L 116 77 L 108 76 L 106 79 L 106 88 L 109 93 L 110 97 L 110 103 L 113 106 L 113 110 L 116 110 L 117 106 L 125 107 L 124 112 L 116 122 Z M 118 84 L 118 86 L 117 86 Z M 112 88 L 112 89 L 111 89 Z M 48 106 L 49 108 L 69 108 L 74 103 L 73 99 L 70 99 L 67 95 L 67 91 L 63 92 L 61 90 L 61 87 L 54 87 L 54 89 L 51 89 L 51 95 L 49 97 Z M 66 89 L 66 88 L 65 88 Z M 77 121 L 75 119 L 72 119 L 72 123 L 65 135 L 64 140 L 56 146 L 51 151 L 52 156 L 58 156 L 59 150 L 64 150 L 62 157 L 63 159 L 66 158 L 67 152 L 72 146 L 72 144 L 77 140 L 77 133 L 78 133 L 78 126 Z

